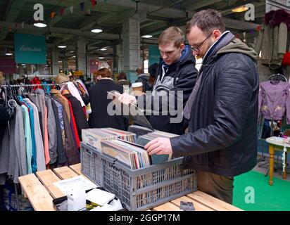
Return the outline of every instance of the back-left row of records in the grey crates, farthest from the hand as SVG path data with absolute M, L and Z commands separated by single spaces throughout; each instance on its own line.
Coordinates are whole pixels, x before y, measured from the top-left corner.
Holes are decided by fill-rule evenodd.
M 101 150 L 102 140 L 113 139 L 122 139 L 133 143 L 137 141 L 136 135 L 129 131 L 122 131 L 113 128 L 94 128 L 82 130 L 82 141 L 97 150 Z

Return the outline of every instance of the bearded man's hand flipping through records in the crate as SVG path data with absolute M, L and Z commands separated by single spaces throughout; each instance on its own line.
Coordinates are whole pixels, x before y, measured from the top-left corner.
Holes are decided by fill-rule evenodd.
M 146 144 L 144 147 L 149 155 L 170 155 L 172 154 L 172 147 L 170 139 L 157 138 Z

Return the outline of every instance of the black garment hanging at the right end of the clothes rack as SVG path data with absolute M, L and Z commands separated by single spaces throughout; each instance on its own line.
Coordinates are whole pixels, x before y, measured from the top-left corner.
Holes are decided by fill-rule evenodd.
M 77 125 L 77 133 L 79 134 L 80 140 L 82 140 L 82 129 L 89 128 L 87 118 L 82 110 L 82 105 L 72 94 L 65 94 L 64 96 L 65 98 L 68 98 L 68 101 L 72 104 L 75 124 Z

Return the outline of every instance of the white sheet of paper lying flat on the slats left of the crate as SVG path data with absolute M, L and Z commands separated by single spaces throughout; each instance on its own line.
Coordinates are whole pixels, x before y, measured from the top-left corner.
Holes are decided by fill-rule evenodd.
M 87 191 L 97 187 L 96 184 L 83 176 L 75 176 L 70 179 L 57 181 L 53 183 L 53 185 L 57 186 L 65 195 L 68 195 L 75 190 L 83 189 L 84 191 Z

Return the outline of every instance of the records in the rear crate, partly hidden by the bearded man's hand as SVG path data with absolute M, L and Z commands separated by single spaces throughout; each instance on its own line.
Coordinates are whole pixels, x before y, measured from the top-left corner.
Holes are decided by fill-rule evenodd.
M 170 139 L 172 137 L 178 136 L 177 134 L 171 134 L 168 132 L 164 132 L 164 131 L 153 131 L 149 134 L 144 134 L 138 137 L 137 139 L 137 144 L 139 146 L 146 146 L 147 143 L 149 143 L 149 141 L 152 141 L 153 139 L 157 139 L 157 138 L 167 138 Z M 172 158 L 172 154 L 170 155 L 151 155 L 151 162 L 152 165 L 158 164 L 158 163 L 162 163 L 162 162 L 167 162 L 169 160 L 171 160 Z

